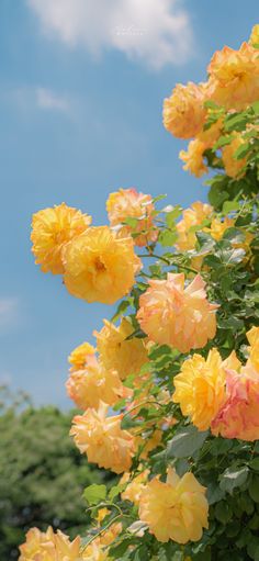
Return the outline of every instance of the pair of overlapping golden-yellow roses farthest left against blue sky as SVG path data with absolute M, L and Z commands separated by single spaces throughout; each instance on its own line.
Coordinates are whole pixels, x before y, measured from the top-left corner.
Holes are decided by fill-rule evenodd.
M 40 211 L 32 221 L 32 251 L 44 272 L 64 274 L 74 296 L 113 304 L 131 291 L 142 263 L 131 236 L 90 223 L 65 203 Z

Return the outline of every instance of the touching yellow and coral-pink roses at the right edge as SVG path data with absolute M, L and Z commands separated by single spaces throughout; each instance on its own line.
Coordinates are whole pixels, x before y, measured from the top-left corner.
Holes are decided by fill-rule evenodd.
M 249 358 L 241 367 L 235 351 L 226 360 L 212 349 L 193 355 L 173 379 L 172 396 L 199 430 L 241 440 L 259 438 L 259 327 L 247 333 Z

